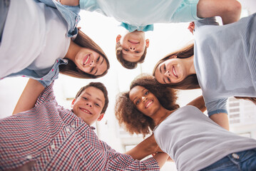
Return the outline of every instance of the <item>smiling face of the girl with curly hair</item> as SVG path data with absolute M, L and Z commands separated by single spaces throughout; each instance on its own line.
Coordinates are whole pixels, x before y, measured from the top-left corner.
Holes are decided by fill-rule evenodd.
M 135 86 L 132 88 L 129 93 L 129 98 L 141 113 L 148 115 L 150 118 L 152 118 L 152 115 L 160 108 L 158 98 L 143 86 Z

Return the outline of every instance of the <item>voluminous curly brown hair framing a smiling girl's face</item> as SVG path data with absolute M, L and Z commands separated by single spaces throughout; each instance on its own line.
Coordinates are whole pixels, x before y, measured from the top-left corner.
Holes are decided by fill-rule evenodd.
M 130 90 L 135 86 L 143 86 L 153 93 L 158 98 L 161 105 L 168 110 L 179 108 L 176 104 L 177 90 L 168 88 L 155 81 L 155 78 L 150 74 L 140 74 L 132 83 L 130 83 Z M 124 125 L 126 130 L 130 133 L 143 134 L 143 136 L 150 133 L 155 128 L 155 123 L 152 118 L 141 113 L 129 98 L 129 93 L 119 93 L 116 98 L 115 114 L 120 125 Z

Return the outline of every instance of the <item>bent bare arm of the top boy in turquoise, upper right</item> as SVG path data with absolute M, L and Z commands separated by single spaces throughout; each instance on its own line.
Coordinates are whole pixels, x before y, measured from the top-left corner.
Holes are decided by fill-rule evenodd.
M 241 4 L 236 0 L 199 0 L 197 15 L 199 18 L 220 16 L 223 24 L 240 19 Z

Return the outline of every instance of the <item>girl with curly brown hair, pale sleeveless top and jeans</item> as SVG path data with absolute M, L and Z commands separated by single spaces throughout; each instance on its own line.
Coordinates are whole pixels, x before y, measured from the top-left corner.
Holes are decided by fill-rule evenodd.
M 158 98 L 158 93 L 151 91 L 151 88 L 158 93 L 165 92 L 161 96 L 163 99 L 172 96 L 172 109 L 165 108 L 163 99 Z M 175 93 L 166 93 L 165 88 L 157 86 L 154 78 L 135 78 L 130 91 L 118 98 L 116 116 L 130 133 L 145 135 L 145 127 L 148 130 L 153 128 L 155 142 L 174 160 L 178 170 L 256 169 L 256 140 L 223 129 L 195 106 L 178 108 L 175 99 Z M 198 104 L 195 103 L 196 106 Z M 140 119 L 135 118 L 133 112 L 150 119 L 143 120 L 141 116 L 138 117 Z M 144 145 L 150 147 L 151 144 Z

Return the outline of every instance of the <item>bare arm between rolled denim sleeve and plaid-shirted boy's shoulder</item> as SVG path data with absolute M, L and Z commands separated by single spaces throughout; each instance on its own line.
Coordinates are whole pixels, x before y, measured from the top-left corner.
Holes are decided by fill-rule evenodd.
M 43 90 L 44 87 L 39 81 L 30 78 L 14 108 L 13 115 L 34 108 L 36 100 Z

